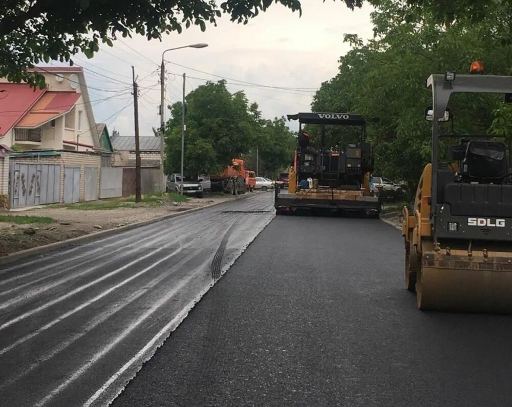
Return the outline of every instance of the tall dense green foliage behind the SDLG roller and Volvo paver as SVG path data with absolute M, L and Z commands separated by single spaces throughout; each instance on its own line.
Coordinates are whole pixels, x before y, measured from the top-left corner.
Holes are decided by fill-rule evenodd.
M 484 8 L 472 8 L 469 0 L 371 3 L 375 37 L 365 43 L 345 36 L 353 48 L 340 57 L 339 73 L 322 84 L 312 108 L 378 118 L 368 125 L 375 173 L 413 186 L 431 154 L 431 125 L 423 118 L 432 105 L 426 79 L 446 70 L 468 73 L 475 59 L 483 61 L 485 74 L 509 75 L 511 8 L 508 0 L 484 1 Z M 498 96 L 457 94 L 449 106 L 456 133 L 483 134 L 491 124 L 496 134 L 512 130 L 512 114 L 498 109 Z

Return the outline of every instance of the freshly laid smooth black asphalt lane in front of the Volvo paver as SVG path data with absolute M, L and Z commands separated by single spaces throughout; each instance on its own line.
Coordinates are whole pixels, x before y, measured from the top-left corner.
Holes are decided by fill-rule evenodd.
M 274 218 L 114 407 L 511 405 L 511 317 L 418 311 L 402 250 L 378 220 Z

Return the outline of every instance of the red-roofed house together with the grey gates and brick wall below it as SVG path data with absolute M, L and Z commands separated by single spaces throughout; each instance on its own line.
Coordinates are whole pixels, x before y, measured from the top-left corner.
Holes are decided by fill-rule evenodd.
M 33 70 L 45 76 L 45 89 L 0 78 L 0 208 L 5 206 L 2 202 L 6 199 L 14 207 L 98 199 L 100 167 L 105 161 L 102 157 L 111 152 L 101 141 L 103 130 L 99 130 L 94 119 L 83 69 L 37 67 Z M 50 168 L 52 174 L 57 174 L 50 184 L 60 190 L 60 194 L 57 189 L 49 192 L 55 198 L 41 202 L 37 194 L 41 185 L 48 182 L 39 179 L 48 168 L 29 167 L 33 162 L 60 166 L 60 169 Z M 97 169 L 91 176 L 92 167 Z M 13 178 L 10 184 L 9 176 Z M 66 177 L 68 181 L 72 177 L 75 190 L 66 190 Z M 91 178 L 95 182 L 93 186 L 86 182 Z M 34 185 L 25 185 L 27 180 Z M 28 196 L 25 191 L 34 196 Z M 10 199 L 6 198 L 9 194 Z M 66 196 L 71 198 L 67 200 Z

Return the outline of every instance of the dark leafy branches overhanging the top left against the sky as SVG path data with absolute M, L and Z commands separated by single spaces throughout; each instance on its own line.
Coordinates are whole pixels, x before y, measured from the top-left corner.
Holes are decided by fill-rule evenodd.
M 118 36 L 132 32 L 147 39 L 161 39 L 162 33 L 178 32 L 191 25 L 206 30 L 216 25 L 222 13 L 231 21 L 247 24 L 266 11 L 272 0 L 2 0 L 0 2 L 0 77 L 27 80 L 42 87 L 44 77 L 27 73 L 41 61 L 70 61 L 83 52 L 91 58 L 100 41 L 112 46 Z M 301 10 L 298 0 L 275 0 L 292 11 Z M 348 7 L 361 0 L 345 0 Z

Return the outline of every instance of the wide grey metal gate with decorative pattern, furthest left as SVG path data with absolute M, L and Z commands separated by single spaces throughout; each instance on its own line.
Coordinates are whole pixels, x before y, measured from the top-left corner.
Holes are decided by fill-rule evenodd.
M 11 161 L 11 208 L 60 202 L 60 165 Z

